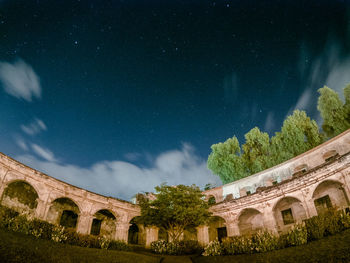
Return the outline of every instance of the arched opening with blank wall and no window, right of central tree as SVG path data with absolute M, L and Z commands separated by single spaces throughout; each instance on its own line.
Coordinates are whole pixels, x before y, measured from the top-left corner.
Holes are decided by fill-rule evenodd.
M 248 235 L 264 228 L 262 214 L 253 208 L 244 209 L 238 218 L 238 227 L 241 235 Z

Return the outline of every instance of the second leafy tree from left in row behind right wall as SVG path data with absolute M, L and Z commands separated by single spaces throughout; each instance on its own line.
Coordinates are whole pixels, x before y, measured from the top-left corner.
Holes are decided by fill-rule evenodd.
M 245 134 L 242 158 L 250 174 L 258 173 L 270 167 L 270 137 L 258 127 Z

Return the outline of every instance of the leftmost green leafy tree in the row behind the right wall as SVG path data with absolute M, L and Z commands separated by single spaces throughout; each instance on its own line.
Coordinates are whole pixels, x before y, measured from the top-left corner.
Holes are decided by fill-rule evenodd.
M 241 148 L 238 139 L 227 139 L 224 143 L 213 144 L 208 157 L 208 168 L 226 184 L 248 175 L 241 158 Z

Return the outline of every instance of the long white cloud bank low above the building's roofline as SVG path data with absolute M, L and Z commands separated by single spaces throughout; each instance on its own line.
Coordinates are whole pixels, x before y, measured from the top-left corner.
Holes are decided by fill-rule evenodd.
M 118 160 L 100 161 L 88 168 L 63 164 L 55 162 L 53 154 L 47 155 L 47 150 L 43 153 L 41 147 L 34 147 L 48 158 L 40 160 L 32 155 L 21 155 L 16 159 L 73 185 L 123 199 L 129 199 L 138 192 L 154 191 L 154 187 L 162 182 L 201 187 L 206 183 L 220 185 L 219 177 L 207 169 L 205 160 L 196 155 L 189 144 L 184 144 L 181 150 L 160 154 L 149 168 Z

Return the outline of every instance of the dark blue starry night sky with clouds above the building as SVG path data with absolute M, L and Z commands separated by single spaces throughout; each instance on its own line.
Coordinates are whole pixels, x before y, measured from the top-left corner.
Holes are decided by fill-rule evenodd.
M 130 199 L 350 82 L 347 1 L 0 0 L 0 151 Z

